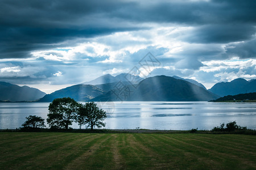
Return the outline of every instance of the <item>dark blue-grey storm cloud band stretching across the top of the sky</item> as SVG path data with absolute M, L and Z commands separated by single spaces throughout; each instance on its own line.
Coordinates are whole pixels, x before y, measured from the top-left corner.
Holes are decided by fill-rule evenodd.
M 1 1 L 0 58 L 30 57 L 65 40 L 150 27 L 192 25 L 183 41 L 223 43 L 255 34 L 256 1 Z M 143 26 L 142 26 L 143 25 Z M 75 45 L 75 44 L 72 44 Z

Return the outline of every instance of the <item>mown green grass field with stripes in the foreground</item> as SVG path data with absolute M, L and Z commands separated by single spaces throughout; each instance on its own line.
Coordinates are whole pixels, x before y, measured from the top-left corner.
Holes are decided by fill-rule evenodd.
M 2 132 L 0 169 L 256 169 L 256 136 Z

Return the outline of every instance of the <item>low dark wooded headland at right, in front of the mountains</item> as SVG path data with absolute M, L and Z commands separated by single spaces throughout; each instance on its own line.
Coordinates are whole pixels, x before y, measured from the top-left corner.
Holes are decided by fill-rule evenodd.
M 216 100 L 211 101 L 236 101 L 236 100 L 256 100 L 256 92 L 248 93 L 248 94 L 239 94 L 239 95 L 228 95 L 224 97 L 220 97 Z

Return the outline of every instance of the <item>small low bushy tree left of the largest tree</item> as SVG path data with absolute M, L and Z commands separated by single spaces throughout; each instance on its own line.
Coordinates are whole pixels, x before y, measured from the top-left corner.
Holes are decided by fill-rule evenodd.
M 44 128 L 44 119 L 40 116 L 28 116 L 26 121 L 22 124 L 23 128 Z

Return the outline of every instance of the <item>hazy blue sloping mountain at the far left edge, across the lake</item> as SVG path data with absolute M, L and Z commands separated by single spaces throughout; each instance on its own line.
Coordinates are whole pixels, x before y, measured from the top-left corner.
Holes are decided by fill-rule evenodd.
M 2 101 L 32 101 L 39 99 L 46 93 L 28 86 L 0 82 L 0 100 Z

